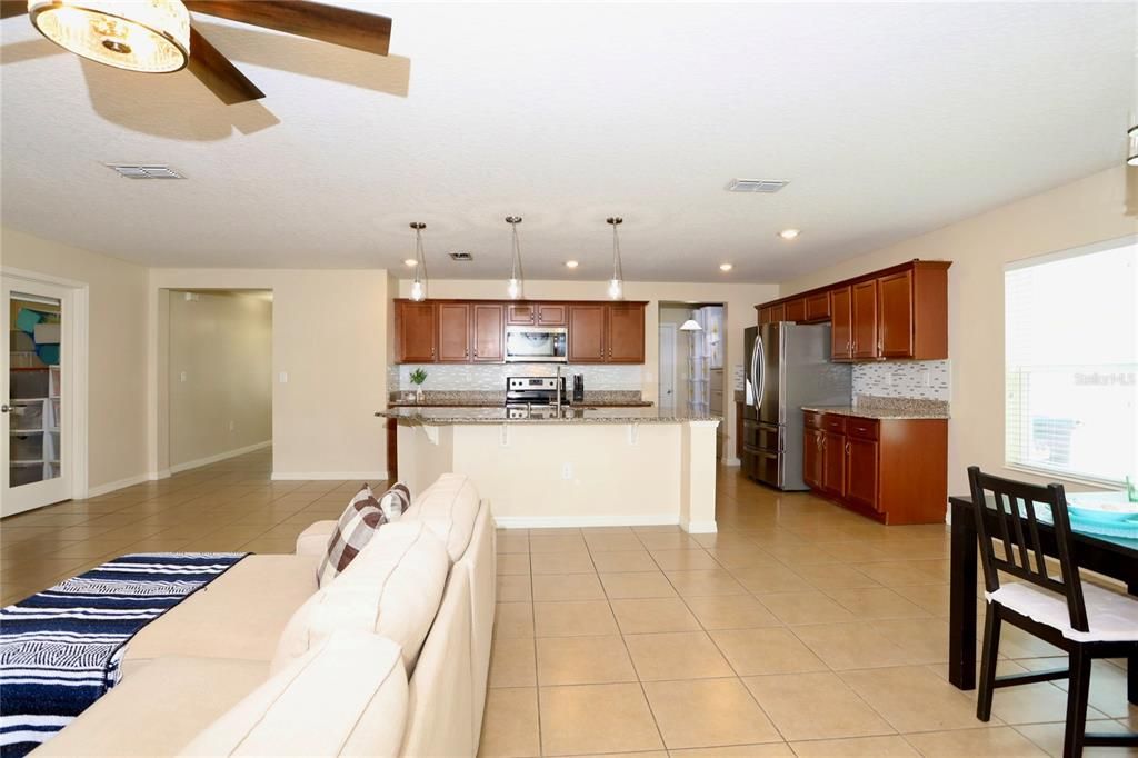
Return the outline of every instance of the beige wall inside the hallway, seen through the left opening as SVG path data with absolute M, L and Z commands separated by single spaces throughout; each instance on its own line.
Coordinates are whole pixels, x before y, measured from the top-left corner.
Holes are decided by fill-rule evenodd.
M 272 302 L 245 293 L 174 291 L 167 333 L 171 469 L 269 444 Z

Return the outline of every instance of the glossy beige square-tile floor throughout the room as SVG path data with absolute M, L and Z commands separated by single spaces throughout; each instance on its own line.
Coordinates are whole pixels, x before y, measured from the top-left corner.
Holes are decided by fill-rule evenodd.
M 262 451 L 0 521 L 0 602 L 127 552 L 291 552 L 357 481 L 270 481 Z M 946 682 L 943 527 L 876 526 L 725 469 L 718 535 L 500 532 L 485 756 L 1059 755 L 1062 683 L 975 720 Z M 1003 670 L 1057 651 L 1005 632 Z M 1138 725 L 1096 669 L 1096 731 Z M 1088 755 L 1122 756 L 1097 750 Z

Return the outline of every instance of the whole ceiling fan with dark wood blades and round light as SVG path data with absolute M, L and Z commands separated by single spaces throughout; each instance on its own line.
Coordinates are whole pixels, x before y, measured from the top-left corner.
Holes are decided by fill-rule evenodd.
M 31 16 L 46 38 L 108 66 L 182 68 L 225 105 L 265 97 L 190 24 L 190 11 L 386 56 L 391 19 L 306 0 L 0 0 L 0 19 Z

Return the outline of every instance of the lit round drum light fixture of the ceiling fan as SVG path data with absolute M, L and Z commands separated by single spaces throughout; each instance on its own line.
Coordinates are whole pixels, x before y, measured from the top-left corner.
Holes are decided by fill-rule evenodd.
M 190 14 L 181 0 L 28 0 L 43 36 L 97 63 L 148 74 L 190 58 Z

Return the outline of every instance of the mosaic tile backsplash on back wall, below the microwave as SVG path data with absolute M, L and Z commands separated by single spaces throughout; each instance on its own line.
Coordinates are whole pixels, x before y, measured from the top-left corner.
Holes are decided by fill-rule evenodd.
M 432 390 L 479 390 L 505 392 L 506 377 L 552 377 L 556 371 L 553 363 L 487 363 L 426 365 L 401 364 L 388 366 L 389 389 L 414 389 L 411 372 L 422 369 L 427 372 L 423 389 Z M 640 392 L 644 384 L 642 365 L 561 365 L 561 376 L 585 374 L 585 390 L 624 389 Z

